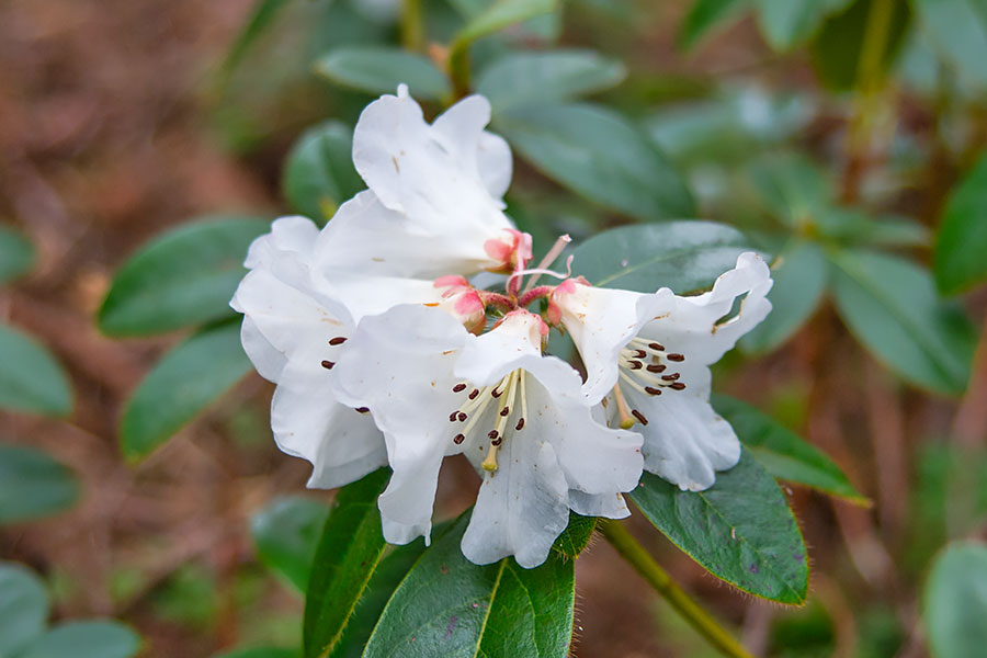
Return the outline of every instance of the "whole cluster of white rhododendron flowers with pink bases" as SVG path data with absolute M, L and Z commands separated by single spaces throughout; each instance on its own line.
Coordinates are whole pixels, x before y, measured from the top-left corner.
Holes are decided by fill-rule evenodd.
M 752 253 L 691 297 L 594 287 L 547 270 L 555 249 L 532 266 L 531 236 L 503 212 L 511 152 L 489 120 L 478 95 L 432 124 L 404 86 L 371 103 L 353 136 L 368 189 L 321 230 L 274 222 L 231 305 L 277 384 L 277 445 L 311 462 L 310 487 L 388 465 L 384 536 L 428 541 L 443 458 L 462 453 L 483 477 L 464 554 L 534 567 L 569 510 L 626 517 L 621 494 L 642 469 L 700 490 L 737 463 L 708 365 L 768 314 L 771 279 Z M 545 353 L 553 330 L 585 376 Z

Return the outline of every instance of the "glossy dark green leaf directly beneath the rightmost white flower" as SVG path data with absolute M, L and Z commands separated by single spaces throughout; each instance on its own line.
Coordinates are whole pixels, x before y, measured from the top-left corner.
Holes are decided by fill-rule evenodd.
M 774 478 L 746 450 L 705 491 L 681 491 L 645 473 L 631 498 L 717 578 L 779 603 L 805 601 L 808 559 L 798 524 Z

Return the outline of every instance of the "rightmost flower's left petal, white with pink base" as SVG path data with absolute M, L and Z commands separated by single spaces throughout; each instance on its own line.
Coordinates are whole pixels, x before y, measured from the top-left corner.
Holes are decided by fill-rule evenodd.
M 617 355 L 647 322 L 674 306 L 668 288 L 651 295 L 565 282 L 552 296 L 586 366 L 582 392 L 600 401 L 617 381 Z

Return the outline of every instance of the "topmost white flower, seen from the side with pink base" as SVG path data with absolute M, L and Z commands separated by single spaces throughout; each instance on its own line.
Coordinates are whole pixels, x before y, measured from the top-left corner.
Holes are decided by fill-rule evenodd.
M 367 105 L 353 162 L 370 189 L 326 227 L 318 266 L 417 279 L 523 268 L 531 236 L 503 214 L 511 151 L 489 122 L 490 103 L 473 95 L 429 125 L 404 84 Z

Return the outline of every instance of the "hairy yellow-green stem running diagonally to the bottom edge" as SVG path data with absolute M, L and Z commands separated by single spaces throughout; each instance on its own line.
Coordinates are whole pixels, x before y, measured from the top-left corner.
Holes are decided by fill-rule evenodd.
M 689 625 L 702 635 L 706 642 L 713 645 L 724 656 L 733 658 L 752 658 L 740 643 L 723 626 L 693 601 L 685 591 L 671 579 L 671 577 L 658 566 L 658 563 L 648 555 L 648 552 L 637 543 L 620 522 L 611 519 L 600 519 L 597 529 L 606 537 L 606 541 L 616 548 L 621 557 L 634 567 L 655 590 L 665 597 L 665 600 L 676 609 Z

